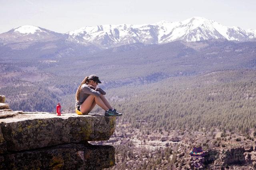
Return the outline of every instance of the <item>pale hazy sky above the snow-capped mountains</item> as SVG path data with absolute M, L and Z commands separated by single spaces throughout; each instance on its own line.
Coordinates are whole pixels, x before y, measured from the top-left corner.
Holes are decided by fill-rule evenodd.
M 256 0 L 0 0 L 0 33 L 33 25 L 65 33 L 102 24 L 152 24 L 193 16 L 256 30 Z

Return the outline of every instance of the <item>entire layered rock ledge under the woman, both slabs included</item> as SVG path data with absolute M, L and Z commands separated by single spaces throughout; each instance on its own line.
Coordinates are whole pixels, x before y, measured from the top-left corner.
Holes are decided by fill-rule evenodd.
M 0 96 L 4 102 L 4 97 Z M 115 117 L 0 110 L 0 169 L 102 169 L 114 165 Z M 0 105 L 0 106 L 1 106 Z

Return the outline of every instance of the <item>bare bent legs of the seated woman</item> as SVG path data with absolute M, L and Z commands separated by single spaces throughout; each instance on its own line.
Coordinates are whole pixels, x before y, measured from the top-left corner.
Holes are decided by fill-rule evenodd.
M 80 111 L 83 114 L 89 113 L 95 105 L 99 105 L 102 109 L 104 109 L 105 111 L 107 111 L 108 107 L 106 107 L 106 105 L 104 104 L 104 102 L 102 101 L 102 99 L 99 96 L 94 96 L 94 95 L 89 95 L 84 103 L 82 103 L 82 105 L 80 106 Z

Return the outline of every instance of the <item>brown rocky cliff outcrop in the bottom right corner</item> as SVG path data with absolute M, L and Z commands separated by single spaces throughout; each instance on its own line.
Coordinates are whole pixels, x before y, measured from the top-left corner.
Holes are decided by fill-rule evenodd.
M 186 150 L 186 148 L 184 150 L 183 148 L 182 151 L 182 146 L 179 147 L 179 150 L 180 151 L 176 153 L 176 167 L 182 167 L 182 170 L 256 169 L 255 144 L 240 144 L 236 146 L 226 146 L 225 148 L 212 147 L 205 151 L 205 156 L 203 156 L 204 159 L 202 161 L 198 161 L 198 159 L 194 160 L 187 152 L 191 152 L 191 150 Z

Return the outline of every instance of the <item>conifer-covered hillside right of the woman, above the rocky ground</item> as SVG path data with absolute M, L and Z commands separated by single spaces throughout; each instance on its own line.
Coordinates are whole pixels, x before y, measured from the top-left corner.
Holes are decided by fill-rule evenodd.
M 216 71 L 109 90 L 122 123 L 140 129 L 248 132 L 255 128 L 256 71 Z M 145 123 L 146 122 L 146 123 Z

